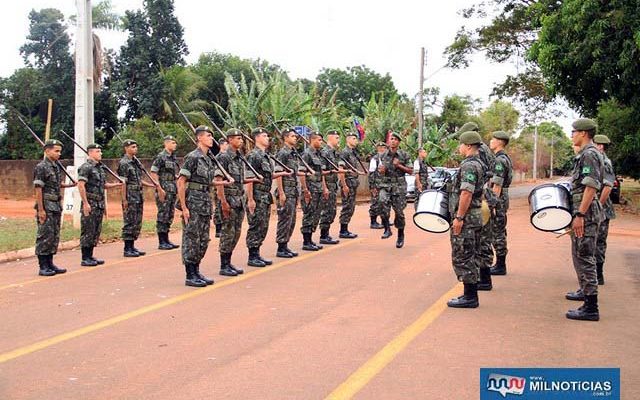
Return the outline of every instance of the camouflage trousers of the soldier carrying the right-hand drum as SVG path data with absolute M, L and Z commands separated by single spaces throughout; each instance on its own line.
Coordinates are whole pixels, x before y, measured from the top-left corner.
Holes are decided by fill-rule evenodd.
M 571 257 L 576 270 L 580 288 L 585 295 L 598 294 L 598 278 L 596 275 L 596 241 L 598 223 L 584 221 L 584 235 L 577 238 L 571 234 Z

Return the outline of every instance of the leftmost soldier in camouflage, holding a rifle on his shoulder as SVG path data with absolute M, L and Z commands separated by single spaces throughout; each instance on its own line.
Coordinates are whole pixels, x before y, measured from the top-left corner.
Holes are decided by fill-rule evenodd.
M 75 186 L 62 183 L 61 167 L 57 164 L 62 153 L 62 142 L 47 140 L 44 144 L 44 160 L 33 170 L 35 188 L 36 256 L 38 256 L 39 275 L 53 276 L 67 272 L 53 263 L 53 255 L 58 252 L 60 243 L 60 219 L 62 218 L 62 196 L 60 188 Z

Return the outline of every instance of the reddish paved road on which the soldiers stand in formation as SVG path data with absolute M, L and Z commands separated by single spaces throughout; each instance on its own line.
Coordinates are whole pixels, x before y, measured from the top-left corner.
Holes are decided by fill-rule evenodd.
M 476 310 L 444 306 L 461 290 L 447 235 L 411 224 L 398 250 L 364 206 L 358 239 L 207 289 L 183 286 L 179 250 L 152 239 L 141 259 L 101 246 L 96 268 L 64 252 L 55 278 L 34 260 L 0 265 L 0 399 L 472 399 L 480 367 L 545 366 L 620 367 L 623 398 L 640 397 L 640 218 L 612 225 L 602 320 L 576 322 L 569 239 L 531 228 L 525 199 L 512 206 L 509 275 Z

